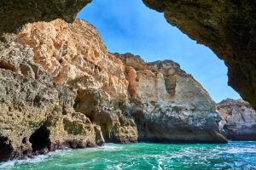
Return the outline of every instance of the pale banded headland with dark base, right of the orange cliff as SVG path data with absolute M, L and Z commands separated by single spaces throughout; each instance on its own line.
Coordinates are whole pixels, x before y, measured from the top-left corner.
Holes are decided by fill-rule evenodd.
M 146 64 L 139 56 L 115 54 L 125 63 L 138 139 L 150 142 L 225 143 L 218 133 L 215 103 L 195 79 L 172 60 Z

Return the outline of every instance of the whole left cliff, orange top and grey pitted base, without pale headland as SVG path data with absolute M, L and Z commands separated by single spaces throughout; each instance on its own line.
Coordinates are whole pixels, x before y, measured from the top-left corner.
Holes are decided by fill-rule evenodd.
M 7 153 L 0 160 L 137 142 L 135 122 L 122 114 L 128 101 L 124 65 L 108 54 L 93 26 L 39 22 L 4 39 L 0 137 L 10 150 L 0 150 Z

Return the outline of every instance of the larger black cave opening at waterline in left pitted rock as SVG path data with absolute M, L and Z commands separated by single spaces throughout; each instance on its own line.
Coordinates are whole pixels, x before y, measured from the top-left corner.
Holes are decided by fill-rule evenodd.
M 49 129 L 43 125 L 29 138 L 33 152 L 46 153 L 50 149 Z

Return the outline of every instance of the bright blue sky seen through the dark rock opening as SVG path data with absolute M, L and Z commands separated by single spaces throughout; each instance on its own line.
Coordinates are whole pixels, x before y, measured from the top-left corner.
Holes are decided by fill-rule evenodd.
M 240 98 L 227 85 L 227 68 L 212 51 L 169 25 L 163 14 L 138 0 L 93 0 L 80 19 L 96 26 L 108 51 L 138 54 L 145 61 L 172 59 L 207 89 L 216 102 Z

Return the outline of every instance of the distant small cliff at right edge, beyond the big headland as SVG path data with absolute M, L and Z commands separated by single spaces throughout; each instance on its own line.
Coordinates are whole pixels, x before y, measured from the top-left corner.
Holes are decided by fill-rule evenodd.
M 224 99 L 217 104 L 220 127 L 231 140 L 256 140 L 256 111 L 242 99 Z

